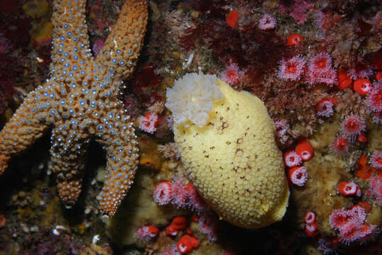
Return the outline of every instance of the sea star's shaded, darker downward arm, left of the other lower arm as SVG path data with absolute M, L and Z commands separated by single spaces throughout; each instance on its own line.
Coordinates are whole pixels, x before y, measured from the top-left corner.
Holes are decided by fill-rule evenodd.
M 50 169 L 57 174 L 57 190 L 66 208 L 71 208 L 81 193 L 89 141 L 90 137 L 69 120 L 52 130 Z

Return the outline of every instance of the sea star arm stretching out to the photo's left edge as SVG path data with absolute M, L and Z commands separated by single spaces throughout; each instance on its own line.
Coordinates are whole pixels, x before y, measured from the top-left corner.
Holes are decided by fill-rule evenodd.
M 44 85 L 46 86 L 46 84 Z M 12 155 L 22 152 L 40 138 L 53 119 L 47 106 L 51 94 L 39 86 L 25 98 L 0 132 L 0 175 Z

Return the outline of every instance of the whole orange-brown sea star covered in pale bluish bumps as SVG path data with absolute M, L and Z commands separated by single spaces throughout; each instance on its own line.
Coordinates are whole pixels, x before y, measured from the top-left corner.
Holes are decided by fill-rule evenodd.
M 146 0 L 127 0 L 103 49 L 94 59 L 88 42 L 86 0 L 56 0 L 50 79 L 31 91 L 0 132 L 0 174 L 14 154 L 52 130 L 52 170 L 66 207 L 81 192 L 92 137 L 107 154 L 100 196 L 105 217 L 115 214 L 137 169 L 138 148 L 129 116 L 118 99 L 132 74 L 146 33 Z

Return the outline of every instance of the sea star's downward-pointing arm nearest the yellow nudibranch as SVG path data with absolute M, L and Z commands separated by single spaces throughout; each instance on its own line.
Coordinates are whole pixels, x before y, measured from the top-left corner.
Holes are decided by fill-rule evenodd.
M 129 116 L 125 115 L 125 111 L 109 111 L 103 119 L 103 125 L 97 127 L 96 141 L 100 142 L 106 151 L 107 173 L 101 191 L 100 208 L 103 216 L 108 218 L 115 214 L 129 191 L 139 156 L 134 128 L 132 123 L 129 123 Z

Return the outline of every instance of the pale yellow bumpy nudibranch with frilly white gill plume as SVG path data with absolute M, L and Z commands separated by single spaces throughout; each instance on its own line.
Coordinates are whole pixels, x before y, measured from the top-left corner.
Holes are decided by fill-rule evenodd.
M 202 72 L 166 96 L 187 176 L 219 217 L 246 228 L 282 220 L 289 188 L 264 103 Z

